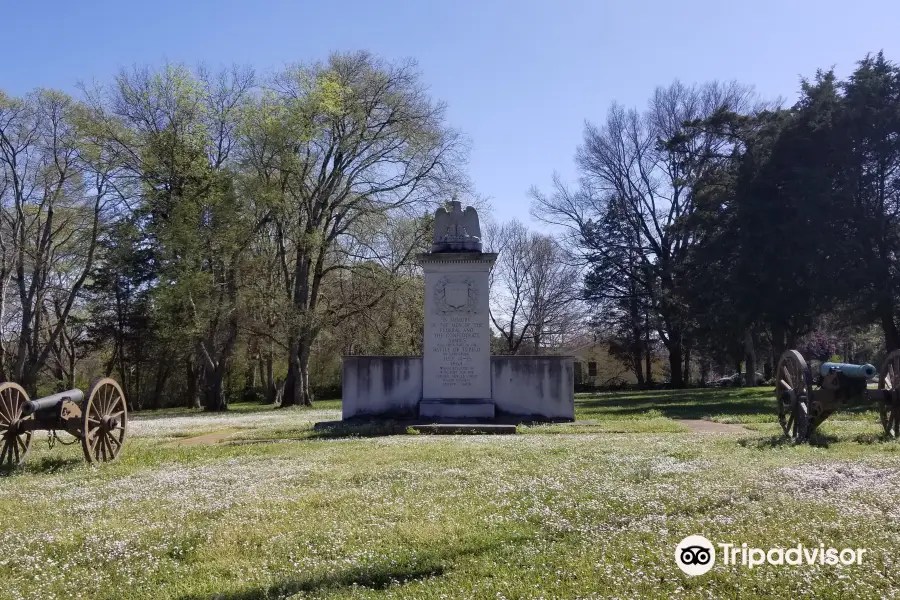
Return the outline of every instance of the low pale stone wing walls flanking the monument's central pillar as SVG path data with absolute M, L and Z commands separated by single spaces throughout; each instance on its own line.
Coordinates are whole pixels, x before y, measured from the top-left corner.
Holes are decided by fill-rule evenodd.
M 342 416 L 417 418 L 422 384 L 420 356 L 346 356 Z M 574 361 L 568 356 L 492 356 L 491 395 L 498 419 L 574 420 Z

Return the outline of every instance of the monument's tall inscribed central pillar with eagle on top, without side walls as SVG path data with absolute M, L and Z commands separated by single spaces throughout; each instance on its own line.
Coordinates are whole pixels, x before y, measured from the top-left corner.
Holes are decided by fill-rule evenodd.
M 473 207 L 453 200 L 434 217 L 431 252 L 419 255 L 425 272 L 425 419 L 494 417 L 488 275 L 496 254 L 482 252 Z

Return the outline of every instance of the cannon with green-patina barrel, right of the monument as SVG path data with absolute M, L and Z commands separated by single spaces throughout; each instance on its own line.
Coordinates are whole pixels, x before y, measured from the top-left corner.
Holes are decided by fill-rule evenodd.
M 878 375 L 878 389 L 869 380 Z M 873 365 L 825 362 L 814 389 L 812 373 L 796 350 L 781 355 L 775 370 L 778 422 L 786 437 L 802 442 L 832 413 L 877 405 L 887 436 L 900 437 L 900 350 L 887 355 L 881 370 Z

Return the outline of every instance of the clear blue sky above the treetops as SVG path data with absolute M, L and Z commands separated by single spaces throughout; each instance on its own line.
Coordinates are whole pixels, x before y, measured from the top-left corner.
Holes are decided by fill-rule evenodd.
M 585 119 L 653 88 L 737 79 L 793 101 L 820 67 L 866 52 L 900 61 L 897 0 L 491 1 L 0 0 L 0 88 L 74 89 L 164 59 L 271 71 L 366 49 L 419 61 L 472 141 L 495 216 L 528 220 L 527 190 L 573 175 Z

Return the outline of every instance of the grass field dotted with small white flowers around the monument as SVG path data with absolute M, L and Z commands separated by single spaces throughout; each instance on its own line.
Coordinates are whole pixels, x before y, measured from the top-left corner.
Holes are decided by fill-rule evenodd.
M 161 411 L 101 467 L 41 437 L 0 478 L 0 598 L 900 597 L 900 443 L 868 411 L 794 446 L 772 406 L 762 388 L 579 395 L 582 423 L 516 436 L 313 431 L 337 402 Z M 748 428 L 676 422 L 700 418 Z M 179 443 L 217 431 L 230 443 Z M 868 553 L 689 578 L 690 534 Z

